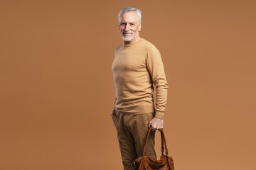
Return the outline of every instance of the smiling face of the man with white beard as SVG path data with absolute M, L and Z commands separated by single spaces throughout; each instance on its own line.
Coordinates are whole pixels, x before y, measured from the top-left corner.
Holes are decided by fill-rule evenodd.
M 141 24 L 138 21 L 137 13 L 134 11 L 127 11 L 122 13 L 121 22 L 119 23 L 119 30 L 124 41 L 131 42 L 138 38 Z

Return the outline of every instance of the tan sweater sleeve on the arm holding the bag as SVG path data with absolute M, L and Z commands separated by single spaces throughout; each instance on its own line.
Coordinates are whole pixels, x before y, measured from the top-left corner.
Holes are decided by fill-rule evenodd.
M 164 119 L 167 103 L 168 83 L 164 73 L 164 64 L 161 54 L 154 45 L 149 45 L 146 56 L 146 67 L 151 75 L 151 79 L 156 86 L 156 115 L 155 118 Z

